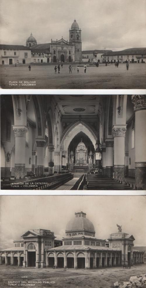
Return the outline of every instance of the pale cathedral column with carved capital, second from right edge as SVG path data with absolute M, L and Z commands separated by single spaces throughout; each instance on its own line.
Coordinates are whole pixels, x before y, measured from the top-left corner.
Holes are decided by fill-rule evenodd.
M 114 179 L 124 182 L 125 178 L 125 133 L 126 125 L 113 126 L 114 136 Z

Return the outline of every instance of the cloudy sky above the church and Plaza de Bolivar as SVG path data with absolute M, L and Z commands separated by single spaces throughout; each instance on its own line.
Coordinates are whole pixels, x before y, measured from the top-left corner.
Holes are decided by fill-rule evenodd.
M 82 50 L 146 47 L 146 0 L 1 0 L 1 44 L 69 40 L 74 18 Z

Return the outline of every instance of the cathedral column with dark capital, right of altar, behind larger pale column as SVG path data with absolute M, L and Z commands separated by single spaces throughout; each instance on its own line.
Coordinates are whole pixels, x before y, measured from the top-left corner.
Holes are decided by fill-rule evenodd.
M 114 140 L 105 140 L 106 146 L 106 176 L 113 177 L 113 146 Z

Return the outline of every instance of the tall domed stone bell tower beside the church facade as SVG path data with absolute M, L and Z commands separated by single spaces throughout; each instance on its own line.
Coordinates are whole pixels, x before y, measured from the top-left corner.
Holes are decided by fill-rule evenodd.
M 71 42 L 72 45 L 75 45 L 74 61 L 82 61 L 81 29 L 79 29 L 76 20 L 74 20 L 71 29 L 69 29 L 69 42 Z

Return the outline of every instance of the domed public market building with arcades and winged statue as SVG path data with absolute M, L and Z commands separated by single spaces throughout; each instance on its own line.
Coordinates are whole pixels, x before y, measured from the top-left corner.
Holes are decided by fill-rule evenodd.
M 13 241 L 14 247 L 0 251 L 0 264 L 95 269 L 144 263 L 144 252 L 133 247 L 133 235 L 117 227 L 118 232 L 110 234 L 108 240 L 97 239 L 86 213 L 77 212 L 67 223 L 64 237 L 41 228 L 28 230 Z

